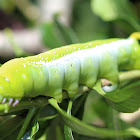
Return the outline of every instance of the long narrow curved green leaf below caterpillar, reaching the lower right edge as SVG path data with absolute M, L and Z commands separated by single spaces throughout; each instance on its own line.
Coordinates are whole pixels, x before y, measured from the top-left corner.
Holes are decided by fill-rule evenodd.
M 58 106 L 57 101 L 55 99 L 53 98 L 49 99 L 49 103 L 55 109 L 57 109 L 57 111 L 61 114 L 62 119 L 64 120 L 65 124 L 78 134 L 91 136 L 91 137 L 99 137 L 99 138 L 111 138 L 111 137 L 116 137 L 116 136 L 131 136 L 131 135 L 140 137 L 139 129 L 136 129 L 137 133 L 134 133 L 134 131 L 131 131 L 131 130 L 113 131 L 106 128 L 94 127 L 78 120 L 77 118 L 73 116 L 67 115 L 67 113 Z

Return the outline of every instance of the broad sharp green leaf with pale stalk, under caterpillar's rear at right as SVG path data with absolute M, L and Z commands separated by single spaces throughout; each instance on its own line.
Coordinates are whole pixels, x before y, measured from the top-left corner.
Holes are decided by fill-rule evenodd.
M 140 107 L 140 81 L 131 83 L 113 92 L 104 92 L 101 83 L 97 82 L 94 89 L 104 96 L 107 102 L 117 111 L 134 112 Z

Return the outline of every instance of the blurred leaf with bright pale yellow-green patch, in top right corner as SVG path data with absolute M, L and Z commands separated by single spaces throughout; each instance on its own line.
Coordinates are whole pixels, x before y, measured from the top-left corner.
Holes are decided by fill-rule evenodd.
M 139 18 L 128 0 L 92 0 L 91 7 L 104 21 L 123 21 L 124 28 L 130 25 L 133 31 L 140 31 Z

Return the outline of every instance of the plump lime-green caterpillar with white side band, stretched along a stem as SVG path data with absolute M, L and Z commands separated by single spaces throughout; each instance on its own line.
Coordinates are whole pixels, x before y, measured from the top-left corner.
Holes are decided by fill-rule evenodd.
M 80 84 L 93 89 L 105 78 L 115 90 L 120 70 L 140 69 L 140 33 L 127 39 L 96 40 L 73 44 L 25 58 L 12 59 L 0 67 L 0 102 L 16 106 L 23 97 L 50 96 L 62 101 L 62 91 L 77 95 Z

